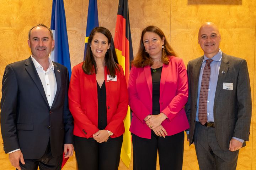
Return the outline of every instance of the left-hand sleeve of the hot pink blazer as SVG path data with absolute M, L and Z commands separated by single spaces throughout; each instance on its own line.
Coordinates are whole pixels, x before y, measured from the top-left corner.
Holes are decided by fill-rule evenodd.
M 136 79 L 137 79 L 137 68 L 132 67 L 130 70 L 129 81 L 128 81 L 128 93 L 129 93 L 129 106 L 133 111 L 133 114 L 142 122 L 145 123 L 144 119 L 149 114 L 152 114 L 148 111 L 146 106 L 138 98 L 138 91 L 136 88 Z M 145 82 L 146 83 L 146 82 Z

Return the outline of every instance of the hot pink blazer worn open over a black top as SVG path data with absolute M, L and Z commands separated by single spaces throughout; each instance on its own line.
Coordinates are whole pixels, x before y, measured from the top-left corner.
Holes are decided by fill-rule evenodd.
M 152 77 L 150 66 L 132 67 L 128 81 L 129 106 L 133 111 L 130 132 L 149 138 L 151 130 L 143 120 L 152 114 Z M 171 56 L 168 65 L 163 64 L 160 79 L 160 113 L 168 119 L 162 122 L 167 136 L 189 128 L 184 105 L 188 100 L 186 67 L 181 58 Z

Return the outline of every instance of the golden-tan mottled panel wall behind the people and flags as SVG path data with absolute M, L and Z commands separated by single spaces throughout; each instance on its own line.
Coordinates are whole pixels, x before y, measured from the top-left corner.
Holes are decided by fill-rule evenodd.
M 64 0 L 69 38 L 71 66 L 82 62 L 89 0 Z M 30 55 L 28 30 L 38 24 L 50 26 L 51 0 L 0 0 L 0 81 L 6 64 L 23 60 Z M 100 26 L 114 36 L 118 0 L 98 0 Z M 203 55 L 197 43 L 197 33 L 203 22 L 219 26 L 223 52 L 244 58 L 248 63 L 252 99 L 256 95 L 255 32 L 256 0 L 129 0 L 130 26 L 134 54 L 138 50 L 140 34 L 149 25 L 160 27 L 178 56 L 185 64 Z M 0 85 L 1 87 L 1 85 Z M 254 101 L 254 100 L 253 100 Z M 254 104 L 254 103 L 253 103 Z M 238 170 L 256 170 L 256 105 L 253 105 L 250 142 L 242 148 Z M 0 139 L 0 143 L 2 140 Z M 184 170 L 197 170 L 194 146 L 184 143 Z M 1 150 L 1 149 L 0 149 Z M 0 152 L 1 169 L 11 169 L 8 155 Z M 6 168 L 4 168 L 6 167 Z M 65 170 L 75 169 L 71 158 Z M 121 163 L 119 169 L 126 169 Z M 132 169 L 132 165 L 129 169 Z

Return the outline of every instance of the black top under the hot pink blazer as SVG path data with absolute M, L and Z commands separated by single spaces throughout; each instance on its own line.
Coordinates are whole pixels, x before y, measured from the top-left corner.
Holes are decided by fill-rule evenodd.
M 152 114 L 160 113 L 160 79 L 161 79 L 162 67 L 159 68 L 151 68 L 151 76 L 152 76 L 152 102 L 153 102 L 153 111 Z

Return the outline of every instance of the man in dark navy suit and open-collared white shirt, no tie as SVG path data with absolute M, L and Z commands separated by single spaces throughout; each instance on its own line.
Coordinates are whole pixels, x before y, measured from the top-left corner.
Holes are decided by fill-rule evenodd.
M 54 40 L 47 26 L 30 29 L 28 46 L 32 55 L 8 64 L 2 79 L 4 150 L 19 170 L 60 170 L 63 151 L 73 155 L 68 70 L 48 57 Z

